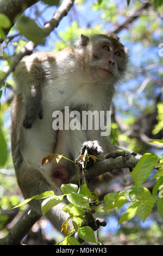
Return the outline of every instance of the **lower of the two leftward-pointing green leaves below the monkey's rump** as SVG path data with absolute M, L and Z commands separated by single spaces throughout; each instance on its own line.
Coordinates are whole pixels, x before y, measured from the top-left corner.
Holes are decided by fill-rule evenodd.
M 43 200 L 41 204 L 42 214 L 52 209 L 53 206 L 58 205 L 63 200 L 64 195 L 53 195 L 53 197 L 49 197 Z

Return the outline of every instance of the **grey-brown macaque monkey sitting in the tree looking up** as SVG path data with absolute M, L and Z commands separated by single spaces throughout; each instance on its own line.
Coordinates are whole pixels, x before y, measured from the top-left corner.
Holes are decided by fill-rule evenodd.
M 77 172 L 76 165 L 65 159 L 57 164 L 55 158 L 43 165 L 48 154 L 63 154 L 76 160 L 79 153 L 105 154 L 114 150 L 109 136 L 101 130 L 54 130 L 53 112 L 65 106 L 70 111 L 110 110 L 115 84 L 127 68 L 127 51 L 116 35 L 81 35 L 76 49 L 60 52 L 37 52 L 24 58 L 16 67 L 16 95 L 12 108 L 11 146 L 17 182 L 24 198 L 54 190 Z M 65 119 L 64 119 L 65 120 Z M 83 145 L 83 146 L 82 146 Z M 82 147 L 82 148 L 81 148 Z M 32 200 L 30 206 L 41 215 L 41 203 Z M 60 203 L 46 213 L 58 230 L 68 213 Z

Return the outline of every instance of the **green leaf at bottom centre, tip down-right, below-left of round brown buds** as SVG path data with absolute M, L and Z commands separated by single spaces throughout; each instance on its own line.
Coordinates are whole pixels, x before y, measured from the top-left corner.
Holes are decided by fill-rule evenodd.
M 78 235 L 84 241 L 96 243 L 95 233 L 93 229 L 89 226 L 79 228 Z

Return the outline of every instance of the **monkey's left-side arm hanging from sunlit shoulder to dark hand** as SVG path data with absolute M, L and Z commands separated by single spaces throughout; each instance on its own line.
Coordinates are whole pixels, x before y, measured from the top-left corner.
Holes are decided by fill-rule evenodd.
M 43 81 L 43 70 L 41 63 L 37 60 L 22 61 L 13 73 L 17 84 L 16 93 L 21 95 L 22 108 L 25 109 L 23 126 L 31 128 L 37 117 L 42 119 L 42 95 L 41 85 Z

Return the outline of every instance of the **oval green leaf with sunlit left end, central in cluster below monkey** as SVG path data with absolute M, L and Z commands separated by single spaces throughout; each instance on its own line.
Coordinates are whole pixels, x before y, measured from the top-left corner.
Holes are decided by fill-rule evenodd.
M 67 199 L 75 206 L 90 209 L 89 200 L 85 198 L 82 194 L 72 192 L 70 194 L 67 194 Z

